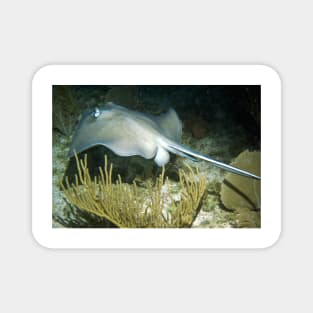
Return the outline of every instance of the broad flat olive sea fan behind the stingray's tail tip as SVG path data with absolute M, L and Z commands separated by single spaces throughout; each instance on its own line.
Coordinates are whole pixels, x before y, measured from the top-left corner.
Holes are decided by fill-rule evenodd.
M 243 151 L 231 164 L 260 175 L 260 152 Z M 228 173 L 221 186 L 221 200 L 227 209 L 234 210 L 238 227 L 259 227 L 261 182 Z

